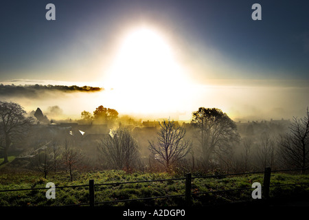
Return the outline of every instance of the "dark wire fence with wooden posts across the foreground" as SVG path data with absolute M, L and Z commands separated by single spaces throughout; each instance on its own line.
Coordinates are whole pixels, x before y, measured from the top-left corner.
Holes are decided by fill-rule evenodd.
M 304 170 L 308 169 L 293 169 L 293 170 L 271 170 L 271 168 L 267 167 L 264 171 L 258 172 L 248 172 L 248 173 L 231 173 L 231 174 L 222 174 L 222 175 L 206 175 L 206 176 L 198 176 L 192 177 L 191 173 L 187 173 L 183 178 L 174 178 L 174 179 L 152 179 L 152 180 L 143 180 L 143 181 L 124 181 L 124 182 L 114 182 L 114 183 L 105 183 L 105 184 L 95 184 L 93 179 L 89 180 L 89 184 L 83 185 L 75 185 L 75 186 L 55 186 L 54 188 L 77 188 L 77 187 L 85 187 L 89 188 L 89 202 L 88 203 L 78 203 L 78 204 L 69 204 L 63 206 L 98 206 L 100 204 L 106 203 L 119 203 L 119 202 L 128 202 L 128 201 L 141 201 L 141 200 L 150 200 L 150 199 L 164 199 L 164 198 L 172 198 L 172 197 L 183 197 L 183 201 L 187 206 L 190 206 L 192 203 L 193 196 L 197 195 L 206 195 L 206 194 L 218 194 L 224 192 L 232 192 L 232 191 L 240 191 L 240 190 L 252 190 L 252 187 L 244 187 L 244 188 L 232 188 L 229 190 L 209 190 L 205 192 L 192 192 L 192 181 L 194 179 L 205 179 L 205 178 L 224 178 L 229 176 L 238 176 L 238 175 L 252 175 L 252 174 L 263 174 L 264 173 L 264 182 L 262 186 L 263 197 L 265 199 L 269 198 L 269 190 L 271 187 L 284 187 L 284 186 L 296 186 L 296 185 L 309 185 L 309 182 L 304 183 L 294 183 L 294 184 L 275 184 L 271 185 L 271 173 L 283 173 L 283 172 L 294 172 L 299 171 L 304 172 Z M 95 186 L 119 186 L 121 184 L 139 184 L 139 183 L 149 183 L 149 182 L 163 182 L 163 181 L 177 181 L 177 180 L 185 180 L 185 193 L 179 195 L 163 195 L 157 197 L 142 197 L 136 199 L 117 199 L 113 201 L 95 201 Z M 15 192 L 15 191 L 25 191 L 25 190 L 47 190 L 47 188 L 21 188 L 21 189 L 10 189 L 10 190 L 0 190 L 0 192 Z

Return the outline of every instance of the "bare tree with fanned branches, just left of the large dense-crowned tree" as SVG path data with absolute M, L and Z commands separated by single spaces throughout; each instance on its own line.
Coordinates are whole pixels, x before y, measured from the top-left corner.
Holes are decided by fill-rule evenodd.
M 159 124 L 157 143 L 149 141 L 149 150 L 169 171 L 175 162 L 191 151 L 192 142 L 190 139 L 185 140 L 185 129 L 176 126 L 174 121 L 164 120 Z

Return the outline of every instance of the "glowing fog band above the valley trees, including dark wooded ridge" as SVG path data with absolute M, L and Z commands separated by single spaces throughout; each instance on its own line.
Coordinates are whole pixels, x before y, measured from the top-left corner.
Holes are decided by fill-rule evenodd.
M 126 96 L 126 91 L 104 90 L 98 87 L 55 88 L 56 86 L 1 85 L 0 99 L 17 102 L 27 112 L 35 111 L 39 107 L 50 120 L 79 120 L 82 111 L 93 112 L 101 104 L 116 109 L 119 115 L 131 115 L 142 120 L 169 118 L 190 121 L 192 111 L 196 111 L 198 107 L 216 107 L 236 122 L 282 118 L 288 120 L 294 116 L 301 117 L 309 106 L 309 87 L 305 85 L 198 85 L 190 90 L 190 96 L 180 98 L 177 91 L 167 94 L 170 102 L 167 102 L 166 98 L 156 97 L 155 91 L 141 91 L 152 97 L 151 100 L 141 100 L 139 96 Z M 181 101 L 174 104 L 174 98 Z

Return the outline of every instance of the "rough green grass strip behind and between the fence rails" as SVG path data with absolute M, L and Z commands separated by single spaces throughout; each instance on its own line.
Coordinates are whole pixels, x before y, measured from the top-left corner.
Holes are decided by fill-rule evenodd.
M 193 176 L 198 175 L 193 174 Z M 47 179 L 41 173 L 16 172 L 0 174 L 0 190 L 21 188 L 45 188 L 47 182 L 54 182 L 56 186 L 87 185 L 89 179 L 95 184 L 106 184 L 124 181 L 144 181 L 154 179 L 174 179 L 182 175 L 168 173 L 125 173 L 122 170 L 106 170 L 93 173 L 79 173 L 75 181 L 70 181 L 69 175 L 57 173 Z M 230 203 L 234 201 L 253 201 L 253 189 L 233 190 L 215 193 L 217 190 L 231 190 L 233 188 L 250 188 L 253 182 L 263 184 L 263 175 L 241 175 L 222 178 L 196 178 L 192 179 L 192 192 L 209 192 L 202 195 L 193 195 L 193 206 L 207 206 L 213 204 Z M 271 185 L 309 183 L 309 175 L 290 175 L 274 173 L 271 175 Z M 0 192 L 0 206 L 63 206 L 71 204 L 89 203 L 89 188 L 80 186 L 76 188 L 56 188 L 56 199 L 46 199 L 43 190 L 26 190 L 14 192 Z M 138 184 L 118 184 L 108 186 L 95 186 L 95 202 L 113 201 L 121 199 L 137 199 L 142 197 L 161 197 L 165 195 L 185 194 L 185 180 L 154 181 Z M 292 198 L 308 197 L 309 184 L 296 186 L 271 187 L 270 197 Z M 104 203 L 100 206 L 182 206 L 183 197 L 164 199 L 147 199 Z

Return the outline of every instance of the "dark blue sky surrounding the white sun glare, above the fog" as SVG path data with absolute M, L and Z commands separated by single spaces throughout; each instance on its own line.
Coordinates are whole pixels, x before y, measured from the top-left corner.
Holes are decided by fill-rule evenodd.
M 47 3 L 56 21 L 45 19 Z M 262 21 L 251 19 L 253 3 Z M 121 30 L 138 23 L 168 32 L 194 77 L 308 80 L 308 10 L 309 1 L 4 0 L 0 80 L 96 80 L 94 66 L 111 61 Z

